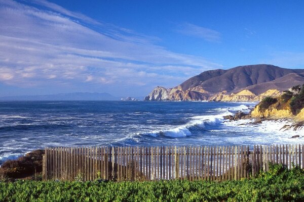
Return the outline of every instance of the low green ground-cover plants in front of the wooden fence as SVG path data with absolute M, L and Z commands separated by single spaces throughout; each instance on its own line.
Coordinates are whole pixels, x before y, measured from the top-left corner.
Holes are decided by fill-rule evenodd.
M 0 201 L 303 201 L 304 171 L 271 166 L 239 181 L 0 183 Z

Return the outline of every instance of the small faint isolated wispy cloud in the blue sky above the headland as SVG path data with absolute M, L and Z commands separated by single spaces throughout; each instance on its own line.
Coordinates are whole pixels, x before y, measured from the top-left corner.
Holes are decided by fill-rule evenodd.
M 176 31 L 184 35 L 203 38 L 210 42 L 219 42 L 221 40 L 221 34 L 219 32 L 191 23 L 180 24 Z

